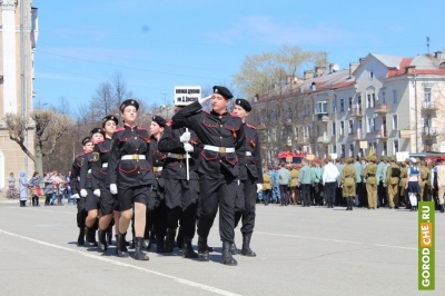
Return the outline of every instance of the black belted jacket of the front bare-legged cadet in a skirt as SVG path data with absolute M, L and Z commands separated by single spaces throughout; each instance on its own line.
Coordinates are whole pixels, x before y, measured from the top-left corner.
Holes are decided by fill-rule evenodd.
M 108 159 L 108 184 L 116 184 L 118 188 L 152 186 L 156 189 L 149 142 L 150 137 L 145 128 L 128 125 L 118 128 L 112 136 Z M 122 160 L 123 156 L 132 156 L 132 159 Z

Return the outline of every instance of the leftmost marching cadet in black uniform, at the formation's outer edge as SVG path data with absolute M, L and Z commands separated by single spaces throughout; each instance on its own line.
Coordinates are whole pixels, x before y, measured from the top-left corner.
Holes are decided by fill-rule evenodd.
M 86 137 L 82 139 L 82 148 L 83 152 L 76 156 L 75 161 L 72 162 L 71 176 L 70 176 L 70 186 L 72 198 L 77 199 L 77 226 L 79 227 L 79 236 L 77 238 L 77 245 L 83 246 L 85 244 L 85 220 L 87 218 L 86 210 L 86 198 L 79 196 L 79 179 L 80 179 L 80 168 L 85 162 L 85 152 L 91 150 L 93 144 L 90 137 Z

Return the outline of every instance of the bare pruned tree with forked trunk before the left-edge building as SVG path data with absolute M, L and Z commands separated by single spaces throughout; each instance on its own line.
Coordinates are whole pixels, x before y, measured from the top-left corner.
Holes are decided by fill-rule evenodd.
M 9 138 L 20 146 L 20 149 L 34 162 L 36 170 L 42 174 L 42 157 L 53 154 L 58 139 L 68 131 L 73 121 L 69 116 L 56 114 L 53 110 L 34 110 L 30 117 L 36 124 L 33 154 L 24 144 L 28 120 L 21 115 L 7 114 L 4 122 Z

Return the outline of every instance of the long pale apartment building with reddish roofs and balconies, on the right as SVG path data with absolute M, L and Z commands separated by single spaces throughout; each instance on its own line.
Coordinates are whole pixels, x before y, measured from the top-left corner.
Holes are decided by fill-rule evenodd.
M 377 156 L 445 152 L 445 55 L 369 53 L 338 68 L 316 67 L 257 96 L 265 152 L 283 142 L 318 157 L 365 156 L 370 147 Z M 268 107 L 280 117 L 267 116 Z

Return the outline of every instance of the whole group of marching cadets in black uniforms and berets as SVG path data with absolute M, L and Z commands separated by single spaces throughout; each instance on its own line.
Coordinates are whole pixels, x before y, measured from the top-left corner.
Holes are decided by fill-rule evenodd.
M 202 110 L 211 99 L 211 111 Z M 238 254 L 235 228 L 240 223 L 240 254 L 254 257 L 250 239 L 255 227 L 257 193 L 263 190 L 258 135 L 246 124 L 251 110 L 215 86 L 211 97 L 176 101 L 175 116 L 154 116 L 147 130 L 137 126 L 139 103 L 120 106 L 121 125 L 106 116 L 100 128 L 82 139 L 83 152 L 72 164 L 70 186 L 77 198 L 78 245 L 86 241 L 102 251 L 116 233 L 116 254 L 148 260 L 146 250 L 209 260 L 207 237 L 219 209 L 221 263 L 235 266 Z M 132 239 L 127 241 L 131 229 Z M 192 248 L 198 235 L 198 253 Z

